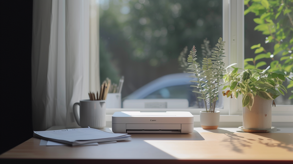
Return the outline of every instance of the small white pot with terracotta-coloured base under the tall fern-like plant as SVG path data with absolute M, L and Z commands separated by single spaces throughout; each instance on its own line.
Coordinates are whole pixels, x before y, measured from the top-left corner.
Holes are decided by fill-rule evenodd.
M 220 111 L 214 113 L 207 113 L 200 111 L 200 125 L 202 129 L 217 129 L 220 122 Z

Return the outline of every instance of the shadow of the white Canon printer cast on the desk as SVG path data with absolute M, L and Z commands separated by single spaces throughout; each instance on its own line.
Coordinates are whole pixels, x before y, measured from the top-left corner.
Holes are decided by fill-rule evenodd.
M 135 138 L 147 138 L 148 140 L 181 140 L 196 141 L 205 140 L 197 131 L 193 130 L 190 134 L 131 134 Z

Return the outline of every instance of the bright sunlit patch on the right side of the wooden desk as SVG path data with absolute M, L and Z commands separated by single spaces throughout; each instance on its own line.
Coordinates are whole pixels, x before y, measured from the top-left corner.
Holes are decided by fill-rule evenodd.
M 144 140 L 178 159 L 293 160 L 292 133 L 200 132 L 205 140 Z

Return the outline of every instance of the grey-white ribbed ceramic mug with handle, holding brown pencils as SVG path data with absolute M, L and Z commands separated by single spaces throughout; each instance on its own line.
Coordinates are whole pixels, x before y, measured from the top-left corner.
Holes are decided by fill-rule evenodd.
M 77 113 L 79 105 L 79 115 Z M 106 102 L 105 100 L 90 101 L 81 100 L 74 103 L 73 114 L 77 124 L 81 127 L 101 129 L 106 126 Z

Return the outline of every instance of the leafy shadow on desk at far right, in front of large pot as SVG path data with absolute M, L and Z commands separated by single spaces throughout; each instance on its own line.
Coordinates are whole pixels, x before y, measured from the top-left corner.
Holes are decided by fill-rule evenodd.
M 293 152 L 293 134 L 292 133 L 253 133 L 255 135 L 269 138 L 258 139 L 258 143 L 268 147 L 279 147 Z

